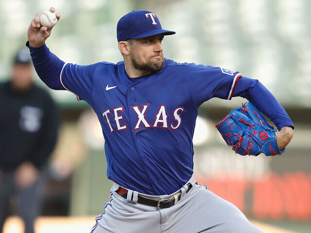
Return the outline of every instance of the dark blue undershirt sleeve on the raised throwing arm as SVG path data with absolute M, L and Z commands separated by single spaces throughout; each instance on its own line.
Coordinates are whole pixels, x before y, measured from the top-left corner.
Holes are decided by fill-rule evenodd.
M 54 55 L 45 44 L 41 47 L 33 48 L 27 42 L 26 46 L 30 50 L 35 71 L 39 78 L 48 87 L 54 90 L 63 90 L 59 83 L 59 75 L 65 63 Z

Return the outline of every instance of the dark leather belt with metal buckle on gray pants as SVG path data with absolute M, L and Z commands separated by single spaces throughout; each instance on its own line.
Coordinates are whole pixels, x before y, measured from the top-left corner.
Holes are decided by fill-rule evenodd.
M 187 183 L 187 186 L 188 186 L 188 189 L 187 189 L 186 193 L 188 193 L 189 190 L 192 188 L 192 184 Z M 116 191 L 116 193 L 119 194 L 119 196 L 121 196 L 124 199 L 127 198 L 127 192 L 128 191 L 122 187 L 119 187 Z M 146 198 L 146 197 L 143 197 L 143 196 L 138 194 L 137 203 L 149 205 L 149 206 L 155 206 L 158 209 L 165 209 L 165 208 L 169 208 L 169 207 L 173 206 L 174 204 L 176 204 L 180 200 L 180 197 L 181 197 L 181 190 L 179 190 L 179 192 L 176 193 L 173 197 L 171 197 L 169 199 L 164 199 L 164 200 L 153 200 L 153 199 Z

